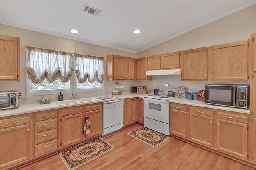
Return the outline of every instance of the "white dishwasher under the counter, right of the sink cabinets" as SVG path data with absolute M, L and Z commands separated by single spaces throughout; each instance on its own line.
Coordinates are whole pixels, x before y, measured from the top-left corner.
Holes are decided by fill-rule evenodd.
M 124 127 L 124 100 L 103 102 L 103 135 Z

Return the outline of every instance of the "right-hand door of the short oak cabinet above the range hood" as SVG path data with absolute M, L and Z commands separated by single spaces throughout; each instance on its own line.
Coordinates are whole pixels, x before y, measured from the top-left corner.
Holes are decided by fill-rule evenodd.
M 161 68 L 180 68 L 180 53 L 168 53 L 161 55 Z

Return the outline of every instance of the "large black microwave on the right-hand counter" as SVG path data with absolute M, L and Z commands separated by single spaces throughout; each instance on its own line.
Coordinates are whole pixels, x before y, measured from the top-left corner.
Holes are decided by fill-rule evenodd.
M 249 85 L 206 84 L 205 103 L 248 109 Z

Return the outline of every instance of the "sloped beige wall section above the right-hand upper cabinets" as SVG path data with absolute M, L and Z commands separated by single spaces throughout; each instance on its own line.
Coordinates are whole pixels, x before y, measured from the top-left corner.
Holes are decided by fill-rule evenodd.
M 255 4 L 137 53 L 137 58 L 250 39 L 252 33 L 256 33 Z

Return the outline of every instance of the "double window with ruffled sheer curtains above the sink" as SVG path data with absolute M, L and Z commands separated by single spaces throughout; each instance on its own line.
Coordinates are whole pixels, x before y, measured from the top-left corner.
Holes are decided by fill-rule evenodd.
M 102 90 L 104 58 L 68 52 L 27 47 L 28 94 L 76 90 Z M 72 56 L 75 68 L 71 65 Z M 72 72 L 76 82 L 70 82 Z M 71 79 L 74 80 L 74 79 Z M 50 93 L 49 93 L 50 94 Z

